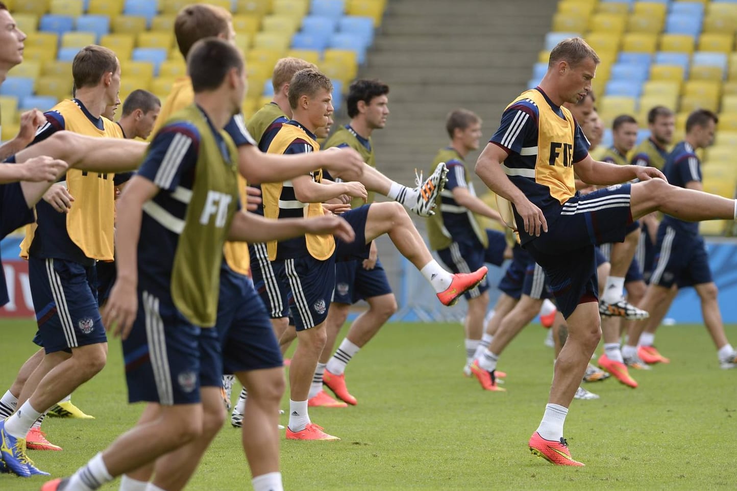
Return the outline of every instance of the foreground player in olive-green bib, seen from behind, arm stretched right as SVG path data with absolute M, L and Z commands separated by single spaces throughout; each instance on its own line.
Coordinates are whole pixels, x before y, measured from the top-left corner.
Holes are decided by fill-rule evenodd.
M 265 231 L 264 219 L 236 213 L 238 154 L 223 127 L 245 93 L 242 55 L 226 41 L 207 38 L 192 46 L 188 62 L 195 104 L 167 120 L 122 195 L 117 236 L 122 266 L 105 311 L 108 325 L 124 339 L 130 399 L 160 403 L 161 416 L 128 431 L 74 476 L 49 481 L 44 490 L 97 489 L 203 431 L 203 401 L 220 403 L 219 391 L 200 389 L 200 379 L 221 373 L 211 327 L 226 239 L 286 239 L 310 232 L 354 237 L 335 216 L 282 222 Z M 181 150 L 178 156 L 172 156 L 172 147 Z M 172 489 L 169 483 L 179 482 L 183 472 L 157 472 L 154 484 Z

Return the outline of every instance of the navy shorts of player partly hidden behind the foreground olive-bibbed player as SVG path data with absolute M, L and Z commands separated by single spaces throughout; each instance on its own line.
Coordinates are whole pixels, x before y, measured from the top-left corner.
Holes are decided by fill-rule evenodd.
M 230 269 L 220 270 L 217 334 L 225 373 L 282 367 L 282 352 L 269 315 L 251 279 Z M 204 385 L 204 384 L 203 384 Z

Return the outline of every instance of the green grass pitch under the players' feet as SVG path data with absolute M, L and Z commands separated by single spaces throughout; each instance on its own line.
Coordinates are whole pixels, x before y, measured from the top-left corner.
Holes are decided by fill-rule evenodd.
M 33 353 L 34 331 L 29 321 L 3 321 L 0 390 Z M 737 339 L 737 328 L 727 335 Z M 531 325 L 510 345 L 499 365 L 509 372 L 509 392 L 496 393 L 463 378 L 460 325 L 385 326 L 346 372 L 359 405 L 310 409 L 315 423 L 343 440 L 282 440 L 285 489 L 734 489 L 737 370 L 719 369 L 704 328 L 662 328 L 658 347 L 672 362 L 635 371 L 638 389 L 613 378 L 584 385 L 601 399 L 574 400 L 566 423 L 583 468 L 553 467 L 526 445 L 552 376 L 544 337 Z M 108 366 L 72 398 L 97 419 L 48 418 L 43 429 L 64 451 L 29 455 L 52 476 L 69 476 L 136 422 L 142 406 L 125 398 L 121 349 L 113 341 Z M 38 490 L 45 480 L 0 475 L 0 489 Z M 117 490 L 118 483 L 103 489 Z M 229 417 L 187 489 L 251 489 L 240 430 Z

